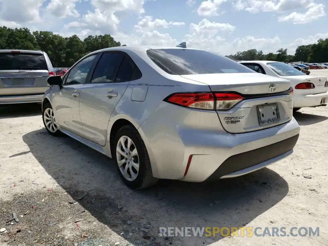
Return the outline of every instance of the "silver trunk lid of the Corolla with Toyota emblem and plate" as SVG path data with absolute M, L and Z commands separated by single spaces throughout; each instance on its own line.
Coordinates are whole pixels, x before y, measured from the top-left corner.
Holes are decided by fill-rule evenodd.
M 293 118 L 291 82 L 260 73 L 192 74 L 184 78 L 208 84 L 214 92 L 237 92 L 242 99 L 229 110 L 216 110 L 229 133 L 277 126 Z M 273 89 L 275 88 L 275 89 Z

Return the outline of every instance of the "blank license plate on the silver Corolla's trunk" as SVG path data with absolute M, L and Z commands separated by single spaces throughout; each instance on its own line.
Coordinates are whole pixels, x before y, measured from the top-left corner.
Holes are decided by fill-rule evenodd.
M 257 106 L 257 115 L 260 126 L 280 121 L 277 103 Z

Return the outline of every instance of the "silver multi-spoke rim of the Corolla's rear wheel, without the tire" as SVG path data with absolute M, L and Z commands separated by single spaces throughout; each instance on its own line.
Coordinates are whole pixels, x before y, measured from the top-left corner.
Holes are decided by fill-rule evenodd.
M 116 145 L 117 165 L 128 181 L 133 181 L 139 173 L 139 155 L 132 139 L 121 136 Z

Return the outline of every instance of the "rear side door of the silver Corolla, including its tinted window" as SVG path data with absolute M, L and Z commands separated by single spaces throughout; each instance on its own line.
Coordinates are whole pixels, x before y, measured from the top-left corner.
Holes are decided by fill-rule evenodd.
M 134 62 L 123 52 L 101 55 L 80 96 L 83 137 L 105 146 L 110 116 L 129 84 L 133 68 Z

